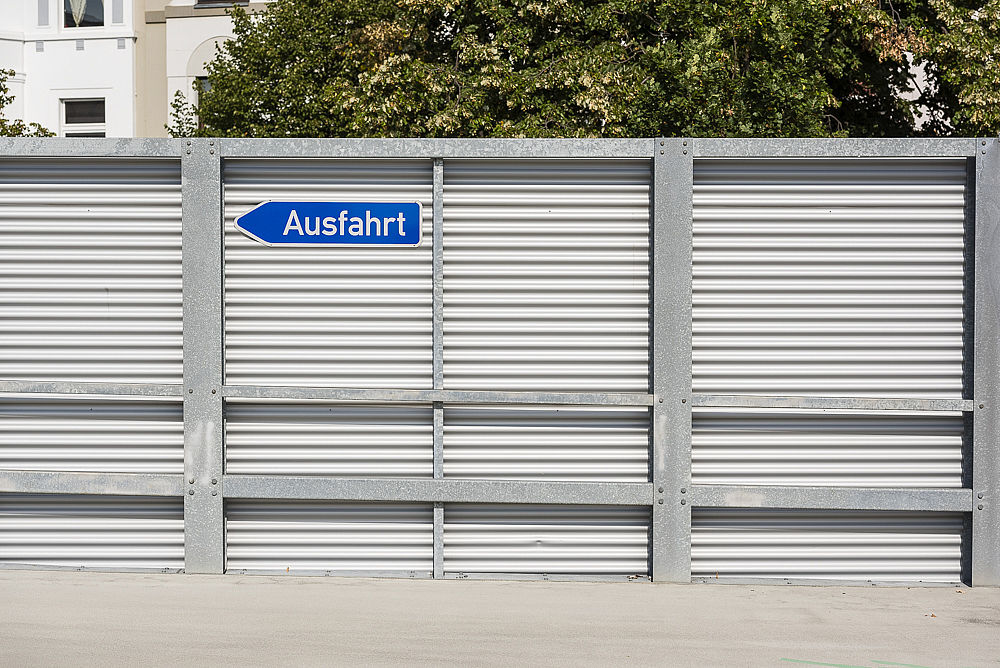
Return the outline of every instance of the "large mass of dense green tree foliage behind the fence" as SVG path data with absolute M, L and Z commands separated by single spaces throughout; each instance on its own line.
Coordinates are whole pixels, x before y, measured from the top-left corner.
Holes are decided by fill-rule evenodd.
M 972 35 L 940 38 L 965 20 L 949 12 L 948 0 L 275 0 L 263 14 L 232 10 L 211 89 L 175 107 L 171 131 L 944 134 L 958 101 L 997 90 L 942 79 L 933 62 L 934 81 L 917 85 L 914 65 L 936 49 L 970 72 L 992 63 Z M 998 107 L 981 106 L 957 122 L 988 126 Z M 918 109 L 933 113 L 918 121 Z M 182 127 L 193 113 L 201 127 Z

